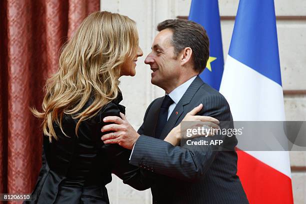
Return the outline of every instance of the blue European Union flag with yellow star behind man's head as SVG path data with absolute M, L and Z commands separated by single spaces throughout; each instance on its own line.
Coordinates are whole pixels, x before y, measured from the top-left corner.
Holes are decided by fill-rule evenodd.
M 192 0 L 188 19 L 201 24 L 208 34 L 209 59 L 200 77 L 219 90 L 224 59 L 218 0 Z

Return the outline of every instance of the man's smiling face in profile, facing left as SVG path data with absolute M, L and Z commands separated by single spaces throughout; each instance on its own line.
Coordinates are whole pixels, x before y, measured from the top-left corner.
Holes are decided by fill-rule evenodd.
M 144 63 L 149 64 L 151 70 L 151 83 L 164 90 L 176 86 L 180 74 L 180 63 L 174 54 L 174 47 L 171 44 L 172 31 L 161 30 L 154 38 L 152 51 L 146 56 Z

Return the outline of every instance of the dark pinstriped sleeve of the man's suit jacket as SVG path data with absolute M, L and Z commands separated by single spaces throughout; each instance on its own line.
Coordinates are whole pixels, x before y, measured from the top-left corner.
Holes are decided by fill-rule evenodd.
M 202 102 L 204 107 L 199 115 L 212 116 L 220 121 L 232 121 L 228 103 L 221 95 L 207 96 L 199 102 Z M 200 138 L 196 137 L 193 140 L 200 140 Z M 213 148 L 212 145 L 200 148 L 185 145 L 183 148 L 160 139 L 140 135 L 134 145 L 130 164 L 158 174 L 196 181 L 202 177 L 215 159 L 218 151 Z

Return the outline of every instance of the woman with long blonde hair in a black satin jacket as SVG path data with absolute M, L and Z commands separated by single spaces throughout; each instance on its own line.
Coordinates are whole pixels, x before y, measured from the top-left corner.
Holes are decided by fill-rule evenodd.
M 100 131 L 105 116 L 125 112 L 118 78 L 135 75 L 141 55 L 135 22 L 127 16 L 94 12 L 80 24 L 46 82 L 42 111 L 31 109 L 42 119 L 44 136 L 42 166 L 26 202 L 109 203 L 111 172 L 138 190 L 149 188 L 149 179 L 128 163 L 130 150 L 104 144 Z

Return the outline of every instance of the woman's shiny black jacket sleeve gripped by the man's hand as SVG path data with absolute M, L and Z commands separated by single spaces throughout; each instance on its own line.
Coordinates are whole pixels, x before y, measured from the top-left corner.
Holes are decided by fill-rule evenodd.
M 109 115 L 115 115 L 120 117 L 120 110 L 116 104 L 110 103 L 99 115 L 99 122 L 101 127 L 104 126 L 103 118 Z M 107 132 L 102 133 L 105 134 Z M 111 165 L 111 171 L 122 179 L 123 183 L 130 185 L 137 190 L 145 190 L 150 187 L 148 182 L 145 182 L 144 174 L 137 166 L 129 164 L 129 156 L 131 150 L 123 148 L 118 144 L 103 144 L 102 150 L 106 153 L 107 158 Z

